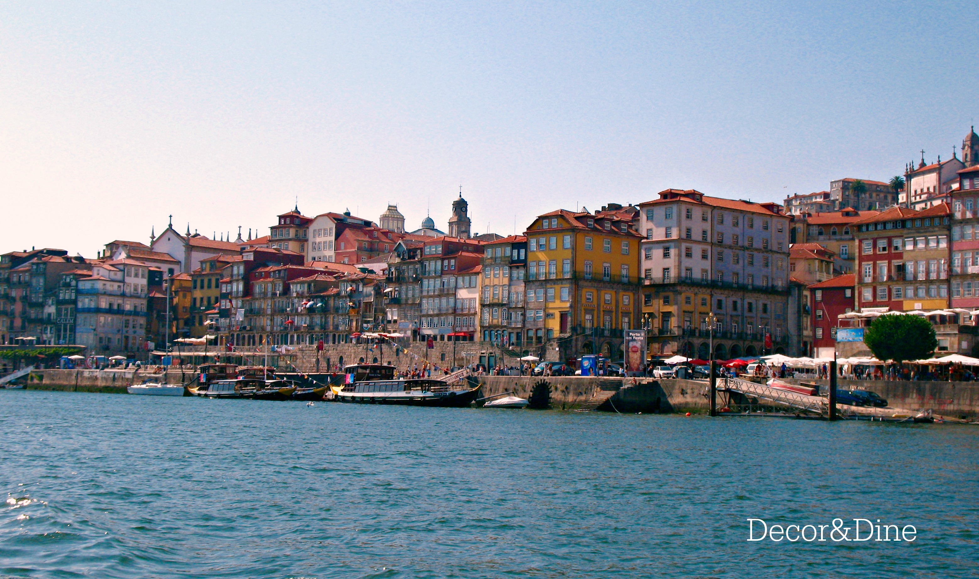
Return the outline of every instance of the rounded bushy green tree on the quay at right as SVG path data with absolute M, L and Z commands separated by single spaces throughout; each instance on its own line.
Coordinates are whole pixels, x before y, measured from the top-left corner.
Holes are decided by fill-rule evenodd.
M 863 334 L 863 343 L 878 360 L 921 360 L 938 347 L 931 322 L 912 314 L 879 316 Z

